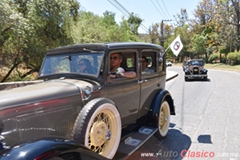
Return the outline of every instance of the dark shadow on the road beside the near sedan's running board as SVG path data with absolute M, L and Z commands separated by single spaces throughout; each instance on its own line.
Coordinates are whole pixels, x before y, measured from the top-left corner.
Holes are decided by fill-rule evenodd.
M 173 124 L 170 125 L 170 127 Z M 168 135 L 159 140 L 155 133 L 142 147 L 140 147 L 126 160 L 176 160 L 182 159 L 191 145 L 191 139 L 181 131 L 170 128 Z

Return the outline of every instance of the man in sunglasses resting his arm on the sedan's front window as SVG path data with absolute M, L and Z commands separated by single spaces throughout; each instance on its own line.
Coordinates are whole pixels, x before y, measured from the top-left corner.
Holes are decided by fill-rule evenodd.
M 125 70 L 120 67 L 122 63 L 122 54 L 121 53 L 113 53 L 111 54 L 110 57 L 110 72 L 113 73 L 110 75 L 111 78 L 119 78 L 119 77 L 124 77 L 124 78 L 135 78 L 136 73 L 131 71 L 131 72 L 125 72 Z

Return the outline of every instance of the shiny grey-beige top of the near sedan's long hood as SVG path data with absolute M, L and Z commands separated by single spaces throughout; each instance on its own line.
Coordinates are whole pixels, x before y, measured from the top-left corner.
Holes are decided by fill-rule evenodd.
M 20 106 L 56 98 L 79 95 L 88 87 L 96 89 L 99 84 L 84 80 L 49 80 L 0 92 L 0 107 Z M 3 109 L 3 108 L 2 108 Z

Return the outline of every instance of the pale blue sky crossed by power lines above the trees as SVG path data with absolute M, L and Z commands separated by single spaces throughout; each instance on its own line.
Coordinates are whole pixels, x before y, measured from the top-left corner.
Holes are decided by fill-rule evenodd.
M 82 10 L 99 16 L 103 16 L 106 10 L 115 13 L 117 23 L 122 21 L 123 16 L 127 19 L 128 13 L 133 12 L 143 19 L 139 33 L 147 33 L 149 26 L 160 23 L 162 20 L 164 23 L 174 23 L 174 16 L 180 14 L 181 9 L 186 9 L 188 17 L 193 18 L 193 12 L 200 0 L 117 0 L 126 9 L 120 9 L 120 11 L 115 7 L 118 6 L 115 0 L 78 0 L 78 2 Z

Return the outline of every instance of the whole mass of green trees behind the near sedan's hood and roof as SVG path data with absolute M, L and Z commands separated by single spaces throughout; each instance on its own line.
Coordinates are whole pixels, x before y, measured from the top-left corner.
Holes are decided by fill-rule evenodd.
M 77 0 L 0 1 L 0 60 L 9 68 L 1 79 L 24 79 L 37 72 L 46 51 L 74 43 L 140 41 L 142 20 L 134 14 L 118 25 L 115 13 L 104 16 L 79 10 Z M 14 74 L 19 67 L 26 72 Z M 14 78 L 16 79 L 16 78 Z

